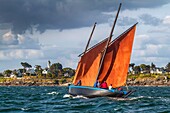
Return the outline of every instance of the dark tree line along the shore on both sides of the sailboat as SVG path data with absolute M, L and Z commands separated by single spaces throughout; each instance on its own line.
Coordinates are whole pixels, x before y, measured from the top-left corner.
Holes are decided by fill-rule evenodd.
M 66 73 L 68 74 L 69 77 L 72 77 L 75 74 L 74 69 L 72 69 L 70 67 L 63 68 L 61 63 L 53 63 L 52 65 L 51 65 L 50 61 L 48 61 L 48 63 L 50 64 L 50 66 L 46 67 L 44 69 L 41 67 L 41 65 L 35 65 L 34 66 L 35 75 L 36 76 L 43 76 L 43 77 L 46 77 L 46 78 L 55 78 L 55 77 L 61 78 Z M 18 75 L 18 71 L 20 73 L 24 74 L 24 75 L 29 76 L 30 74 L 27 73 L 27 69 L 32 68 L 32 66 L 27 62 L 21 62 L 21 66 L 23 67 L 21 69 L 5 70 L 3 73 L 0 73 L 0 76 L 1 77 L 10 76 L 12 73 L 14 75 Z M 135 63 L 130 63 L 129 64 L 129 73 L 134 71 L 134 72 L 136 72 L 136 74 L 139 74 L 139 73 L 141 73 L 141 71 L 148 71 L 149 72 L 150 70 L 153 70 L 153 69 L 156 69 L 156 68 L 165 70 L 166 72 L 170 72 L 170 62 L 165 67 L 156 67 L 156 65 L 154 63 L 151 63 L 150 65 L 147 65 L 147 64 L 135 65 Z M 43 74 L 44 70 L 47 71 L 47 74 Z

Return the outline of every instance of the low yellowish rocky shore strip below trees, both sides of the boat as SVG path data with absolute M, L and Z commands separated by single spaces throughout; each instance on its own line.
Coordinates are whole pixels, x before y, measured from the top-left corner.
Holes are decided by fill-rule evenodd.
M 72 78 L 39 79 L 37 77 L 6 78 L 0 81 L 0 86 L 68 86 Z M 170 86 L 170 79 L 166 76 L 128 78 L 128 86 Z

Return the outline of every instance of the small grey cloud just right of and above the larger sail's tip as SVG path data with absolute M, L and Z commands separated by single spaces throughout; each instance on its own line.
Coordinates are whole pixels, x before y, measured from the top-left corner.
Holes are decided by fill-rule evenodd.
M 149 14 L 143 14 L 143 15 L 141 15 L 139 18 L 140 18 L 140 19 L 143 21 L 143 23 L 146 24 L 146 25 L 157 26 L 157 25 L 159 25 L 159 24 L 162 22 L 161 19 L 156 18 L 156 17 L 153 17 L 153 16 L 151 16 L 151 15 L 149 15 Z

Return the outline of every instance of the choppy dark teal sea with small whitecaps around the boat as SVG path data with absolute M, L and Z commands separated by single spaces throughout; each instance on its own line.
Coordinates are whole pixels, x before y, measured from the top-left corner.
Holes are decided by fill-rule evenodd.
M 170 113 L 170 87 L 131 87 L 128 99 L 71 97 L 67 87 L 0 87 L 4 113 Z

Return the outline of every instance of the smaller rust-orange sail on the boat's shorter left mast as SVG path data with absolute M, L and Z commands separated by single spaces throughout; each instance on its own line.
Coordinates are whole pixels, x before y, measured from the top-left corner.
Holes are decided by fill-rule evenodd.
M 79 80 L 81 80 L 83 86 L 94 85 L 101 59 L 101 52 L 104 50 L 106 43 L 107 39 L 90 48 L 81 56 L 73 80 L 74 85 L 76 85 Z

